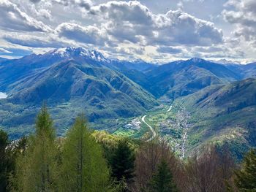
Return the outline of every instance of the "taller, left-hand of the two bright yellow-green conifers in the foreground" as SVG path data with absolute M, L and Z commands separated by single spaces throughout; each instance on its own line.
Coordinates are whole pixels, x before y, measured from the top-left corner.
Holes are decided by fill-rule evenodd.
M 37 116 L 36 134 L 20 153 L 14 177 L 14 191 L 57 191 L 58 150 L 53 121 L 43 105 Z

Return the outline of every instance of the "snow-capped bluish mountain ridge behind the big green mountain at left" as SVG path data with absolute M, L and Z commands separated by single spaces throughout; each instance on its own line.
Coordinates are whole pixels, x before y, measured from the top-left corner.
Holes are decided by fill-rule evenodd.
M 31 74 L 36 74 L 57 62 L 74 59 L 86 62 L 90 66 L 102 66 L 108 60 L 95 50 L 86 50 L 82 47 L 67 47 L 51 50 L 45 54 L 32 54 L 23 58 L 4 61 L 0 64 L 0 89 L 9 91 L 9 85 Z

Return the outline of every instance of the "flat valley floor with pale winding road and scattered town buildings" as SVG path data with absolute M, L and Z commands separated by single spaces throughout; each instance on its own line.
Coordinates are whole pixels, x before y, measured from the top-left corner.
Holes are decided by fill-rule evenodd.
M 170 147 L 181 158 L 186 157 L 187 138 L 189 131 L 189 113 L 184 106 L 166 105 L 148 112 L 142 117 L 125 121 L 124 125 L 117 128 L 113 134 L 142 138 L 147 142 L 158 138 L 168 142 Z

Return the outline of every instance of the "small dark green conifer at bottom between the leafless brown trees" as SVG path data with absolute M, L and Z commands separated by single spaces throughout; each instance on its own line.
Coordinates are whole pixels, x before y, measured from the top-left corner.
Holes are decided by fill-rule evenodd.
M 178 188 L 173 182 L 173 174 L 167 163 L 162 160 L 157 168 L 157 172 L 153 174 L 151 181 L 152 192 L 177 192 Z

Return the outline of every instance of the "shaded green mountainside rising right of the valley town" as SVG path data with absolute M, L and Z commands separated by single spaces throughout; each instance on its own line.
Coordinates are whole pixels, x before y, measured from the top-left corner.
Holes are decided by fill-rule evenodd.
M 208 141 L 227 142 L 241 157 L 256 146 L 256 80 L 212 85 L 177 99 L 192 113 L 190 148 Z

